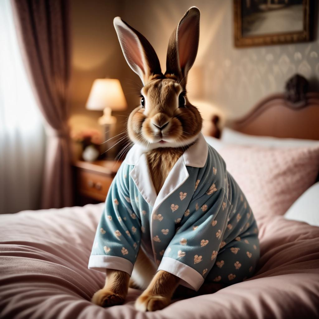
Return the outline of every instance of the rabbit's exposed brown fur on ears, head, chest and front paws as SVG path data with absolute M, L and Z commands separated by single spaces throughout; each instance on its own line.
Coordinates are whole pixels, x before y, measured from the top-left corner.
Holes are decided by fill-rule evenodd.
M 123 54 L 144 84 L 141 93 L 145 98 L 145 108 L 140 105 L 131 112 L 128 134 L 134 143 L 149 150 L 146 154 L 148 168 L 157 194 L 176 161 L 195 142 L 202 128 L 201 115 L 190 104 L 185 92 L 187 73 L 197 54 L 199 17 L 199 10 L 190 8 L 174 30 L 168 45 L 165 75 L 145 37 L 119 17 L 114 19 Z M 186 104 L 179 107 L 181 93 Z M 142 255 L 138 254 L 137 258 L 142 260 Z M 143 268 L 140 267 L 142 263 L 137 262 L 139 268 Z M 135 307 L 142 311 L 166 307 L 178 282 L 179 278 L 173 274 L 158 271 L 136 300 Z M 104 288 L 94 294 L 92 301 L 102 306 L 119 304 L 127 294 L 128 285 L 126 273 L 109 270 Z

